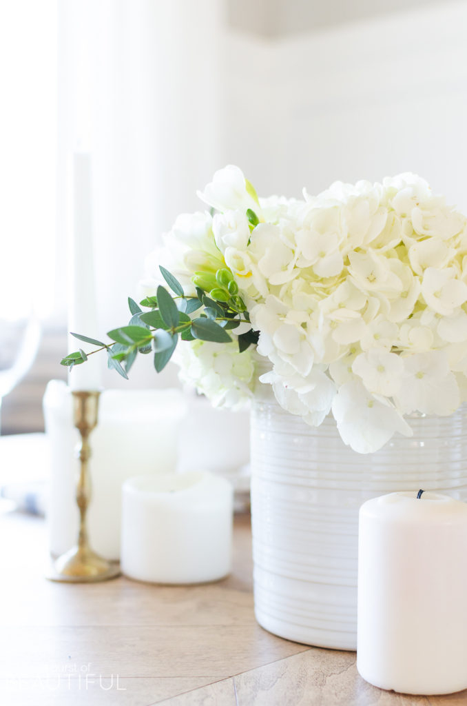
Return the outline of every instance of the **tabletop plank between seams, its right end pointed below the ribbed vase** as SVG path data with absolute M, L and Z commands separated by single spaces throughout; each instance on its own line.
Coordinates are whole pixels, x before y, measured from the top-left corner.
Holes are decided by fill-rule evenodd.
M 257 625 L 7 627 L 0 678 L 40 678 L 67 664 L 91 664 L 103 676 L 220 679 L 305 649 Z

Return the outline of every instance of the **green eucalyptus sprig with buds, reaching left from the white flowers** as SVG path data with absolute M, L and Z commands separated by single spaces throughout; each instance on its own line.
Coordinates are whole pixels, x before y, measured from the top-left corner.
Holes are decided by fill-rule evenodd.
M 228 330 L 238 328 L 241 323 L 250 323 L 250 317 L 232 273 L 226 268 L 214 273 L 195 273 L 193 283 L 196 297 L 186 296 L 180 282 L 169 270 L 160 266 L 162 277 L 174 292 L 157 287 L 155 297 L 146 297 L 137 304 L 128 297 L 131 319 L 128 325 L 115 328 L 107 335 L 105 343 L 80 333 L 71 333 L 85 343 L 98 346 L 85 353 L 83 349 L 68 354 L 61 365 L 72 369 L 87 361 L 90 355 L 107 351 L 108 366 L 128 379 L 128 373 L 138 353 L 154 353 L 154 368 L 162 371 L 172 357 L 178 340 L 228 343 L 232 338 Z M 149 309 L 143 311 L 141 309 Z M 246 350 L 257 343 L 258 334 L 252 328 L 238 335 L 238 349 Z

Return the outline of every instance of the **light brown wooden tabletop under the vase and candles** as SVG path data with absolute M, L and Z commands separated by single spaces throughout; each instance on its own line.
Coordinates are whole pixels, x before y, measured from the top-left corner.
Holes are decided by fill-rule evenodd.
M 5 706 L 467 705 L 467 691 L 403 696 L 370 686 L 354 652 L 320 650 L 255 623 L 250 522 L 233 573 L 189 587 L 43 578 L 44 521 L 0 517 L 0 703 Z M 466 665 L 467 668 L 467 665 Z

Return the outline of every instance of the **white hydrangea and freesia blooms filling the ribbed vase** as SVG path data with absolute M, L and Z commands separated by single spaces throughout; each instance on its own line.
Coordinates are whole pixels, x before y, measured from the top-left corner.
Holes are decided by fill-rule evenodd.
M 313 426 L 332 412 L 344 443 L 370 453 L 411 435 L 405 415 L 467 400 L 467 219 L 423 179 L 258 199 L 229 166 L 199 195 L 214 215 L 178 217 L 147 260 L 145 291 L 158 263 L 187 294 L 229 270 L 270 363 L 260 380 L 284 409 Z M 253 394 L 250 350 L 187 342 L 183 378 L 238 406 Z

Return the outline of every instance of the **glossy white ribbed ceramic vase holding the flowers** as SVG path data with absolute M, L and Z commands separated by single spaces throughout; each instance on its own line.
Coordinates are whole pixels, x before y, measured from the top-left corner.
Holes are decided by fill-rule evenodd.
M 420 488 L 466 501 L 466 409 L 413 415 L 413 437 L 360 455 L 332 417 L 308 426 L 260 388 L 251 421 L 257 621 L 281 638 L 356 650 L 358 508 Z

